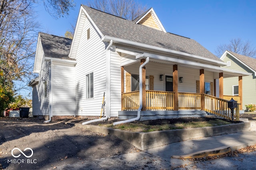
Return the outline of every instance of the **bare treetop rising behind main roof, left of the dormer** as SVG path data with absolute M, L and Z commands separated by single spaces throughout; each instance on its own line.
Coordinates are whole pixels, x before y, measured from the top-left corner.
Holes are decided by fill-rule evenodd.
M 92 0 L 86 5 L 127 20 L 136 19 L 147 8 L 134 0 Z

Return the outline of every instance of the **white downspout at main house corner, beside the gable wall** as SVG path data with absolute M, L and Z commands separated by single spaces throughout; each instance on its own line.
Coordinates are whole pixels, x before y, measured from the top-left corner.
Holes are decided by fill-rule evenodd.
M 94 119 L 90 121 L 83 122 L 82 125 L 87 125 L 89 123 L 97 122 L 97 121 L 104 121 L 110 117 L 110 47 L 113 44 L 113 40 L 110 40 L 110 43 L 108 47 L 106 48 L 106 77 L 107 77 L 107 83 L 106 83 L 106 91 L 107 91 L 107 114 L 105 117 L 101 119 Z

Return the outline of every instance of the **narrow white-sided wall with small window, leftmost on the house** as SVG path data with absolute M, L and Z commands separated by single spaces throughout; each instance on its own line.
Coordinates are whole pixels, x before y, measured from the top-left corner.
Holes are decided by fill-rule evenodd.
M 49 115 L 49 98 L 50 98 L 50 62 L 44 61 L 44 54 L 41 57 L 41 66 L 39 73 L 38 98 L 39 98 L 39 115 Z M 46 97 L 44 97 L 44 82 L 46 81 Z

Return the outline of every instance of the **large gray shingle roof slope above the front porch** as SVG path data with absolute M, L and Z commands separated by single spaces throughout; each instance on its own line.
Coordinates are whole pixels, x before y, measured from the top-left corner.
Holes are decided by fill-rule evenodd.
M 136 24 L 134 21 L 106 14 L 88 6 L 82 6 L 103 35 L 221 61 L 193 39 L 172 33 L 164 33 L 163 31 Z

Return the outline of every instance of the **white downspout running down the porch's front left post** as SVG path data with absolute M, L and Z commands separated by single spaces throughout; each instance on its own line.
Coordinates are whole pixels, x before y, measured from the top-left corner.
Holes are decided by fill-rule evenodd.
M 128 122 L 132 122 L 132 121 L 136 121 L 138 119 L 140 119 L 140 111 L 142 109 L 142 68 L 148 64 L 149 62 L 149 57 L 146 58 L 146 61 L 145 63 L 141 64 L 140 65 L 140 70 L 139 70 L 139 76 L 140 76 L 140 84 L 139 84 L 139 90 L 140 90 L 140 107 L 138 108 L 138 115 L 137 117 L 135 118 L 132 118 L 132 119 L 128 119 L 128 120 L 123 120 L 123 121 L 117 121 L 117 122 L 114 122 L 113 125 L 118 125 L 118 124 L 121 124 L 121 123 L 128 123 Z

